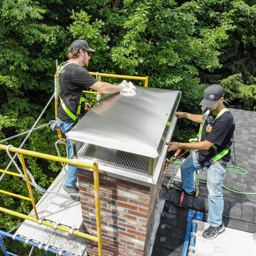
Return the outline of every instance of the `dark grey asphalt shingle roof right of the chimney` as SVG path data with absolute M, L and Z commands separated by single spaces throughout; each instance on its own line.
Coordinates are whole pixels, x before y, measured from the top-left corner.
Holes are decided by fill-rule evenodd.
M 245 169 L 247 175 L 227 172 L 224 186 L 239 191 L 256 193 L 256 112 L 230 109 L 236 122 L 234 142 L 231 147 L 229 166 Z M 178 168 L 172 164 L 163 178 L 160 197 L 166 199 L 152 255 L 181 256 L 186 236 L 187 216 L 189 209 L 204 212 L 203 221 L 208 217 L 208 190 L 205 183 L 199 184 L 199 195 L 185 193 L 183 205 L 186 209 L 175 207 L 179 203 L 181 191 L 166 189 L 166 184 Z M 244 173 L 240 169 L 231 169 Z M 207 169 L 200 171 L 201 181 L 207 180 Z M 223 188 L 224 212 L 223 222 L 226 227 L 256 233 L 256 195 L 243 195 Z

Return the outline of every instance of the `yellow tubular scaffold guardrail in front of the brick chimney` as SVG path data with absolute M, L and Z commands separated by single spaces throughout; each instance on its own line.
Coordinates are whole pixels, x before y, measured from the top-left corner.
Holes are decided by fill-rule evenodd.
M 0 144 L 0 149 L 6 150 L 7 148 L 8 148 L 8 146 Z M 81 237 L 84 237 L 84 238 L 87 238 L 87 239 L 91 239 L 93 241 L 97 241 L 98 242 L 99 256 L 102 256 L 102 231 L 101 231 L 100 204 L 99 204 L 99 169 L 98 169 L 98 163 L 88 164 L 88 163 L 84 163 L 84 162 L 82 162 L 80 160 L 76 160 L 76 159 L 72 160 L 72 159 L 67 159 L 67 158 L 64 158 L 64 157 L 57 157 L 57 156 L 53 156 L 53 155 L 49 155 L 49 154 L 43 154 L 43 153 L 29 151 L 29 150 L 26 150 L 26 149 L 15 148 L 15 147 L 9 147 L 9 151 L 16 152 L 16 153 L 20 154 L 21 163 L 22 163 L 24 174 L 25 174 L 24 176 L 26 178 L 26 183 L 27 183 L 27 186 L 28 186 L 28 189 L 29 189 L 30 198 L 27 198 L 27 197 L 24 197 L 24 196 L 21 196 L 21 195 L 16 195 L 16 194 L 13 194 L 13 193 L 10 193 L 10 192 L 7 192 L 7 191 L 3 191 L 3 190 L 0 190 L 0 192 L 4 193 L 6 195 L 12 195 L 12 196 L 16 196 L 18 198 L 22 198 L 22 199 L 31 201 L 32 205 L 33 205 L 33 208 L 35 210 L 36 218 L 31 217 L 29 215 L 25 215 L 23 213 L 12 211 L 12 210 L 9 210 L 9 209 L 3 208 L 3 207 L 0 207 L 0 211 L 11 214 L 11 215 L 15 215 L 15 216 L 20 217 L 20 218 L 27 219 L 29 221 L 34 221 L 34 222 L 37 222 L 37 223 L 39 221 L 39 217 L 38 217 L 38 213 L 36 211 L 35 201 L 34 201 L 33 194 L 32 194 L 32 189 L 31 189 L 31 186 L 30 186 L 30 183 L 29 183 L 29 177 L 28 177 L 27 172 L 26 172 L 26 166 L 25 166 L 25 161 L 24 161 L 24 158 L 23 158 L 23 154 L 33 156 L 33 157 L 40 157 L 40 158 L 43 158 L 43 159 L 53 160 L 53 161 L 57 161 L 57 162 L 62 162 L 62 163 L 69 163 L 69 164 L 73 164 L 73 165 L 76 165 L 76 166 L 83 166 L 83 167 L 93 169 L 94 188 L 95 188 L 97 237 L 82 233 L 78 230 L 73 230 L 73 234 L 76 235 L 76 236 L 81 236 Z M 15 172 L 8 172 L 8 171 L 1 170 L 1 169 L 0 169 L 0 172 L 6 173 L 6 174 L 9 174 L 9 175 L 15 175 L 17 177 L 22 177 L 20 174 L 17 174 Z M 44 220 L 41 221 L 41 224 L 46 225 L 48 227 L 54 227 L 55 226 L 55 223 L 52 223 L 52 222 L 49 222 L 49 221 L 44 221 Z M 57 229 L 62 230 L 62 231 L 67 232 L 67 233 L 70 232 L 70 228 L 63 227 L 61 225 L 58 225 Z

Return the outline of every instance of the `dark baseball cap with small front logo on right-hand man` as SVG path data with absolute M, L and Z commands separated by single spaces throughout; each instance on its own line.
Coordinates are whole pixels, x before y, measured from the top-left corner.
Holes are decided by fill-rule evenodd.
M 204 90 L 204 99 L 199 105 L 212 108 L 222 97 L 224 97 L 222 87 L 218 84 L 211 84 Z

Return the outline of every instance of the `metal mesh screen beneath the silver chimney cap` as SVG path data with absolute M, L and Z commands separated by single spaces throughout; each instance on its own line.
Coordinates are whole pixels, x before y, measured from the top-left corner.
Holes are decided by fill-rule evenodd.
M 146 175 L 148 174 L 150 161 L 149 157 L 88 143 L 84 143 L 84 145 L 81 146 L 81 142 L 79 141 L 76 141 L 76 145 L 78 157 L 87 159 L 89 161 L 104 163 L 109 166 L 140 172 Z M 154 169 L 155 166 L 156 163 L 154 163 Z

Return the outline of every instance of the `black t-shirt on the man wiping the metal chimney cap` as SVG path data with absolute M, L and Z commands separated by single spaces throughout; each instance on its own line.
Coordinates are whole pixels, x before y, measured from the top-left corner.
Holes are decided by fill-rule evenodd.
M 62 65 L 67 64 L 64 62 Z M 88 90 L 96 80 L 89 72 L 73 62 L 67 64 L 61 71 L 59 76 L 59 90 L 60 97 L 65 103 L 66 107 L 76 116 L 76 112 L 79 106 L 79 101 L 83 90 Z M 85 102 L 81 104 L 81 116 L 85 115 L 84 107 Z M 64 111 L 61 106 L 60 99 L 57 105 L 57 117 L 63 122 L 74 122 L 74 120 Z

